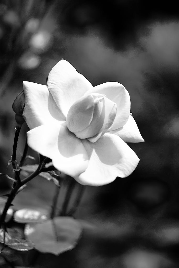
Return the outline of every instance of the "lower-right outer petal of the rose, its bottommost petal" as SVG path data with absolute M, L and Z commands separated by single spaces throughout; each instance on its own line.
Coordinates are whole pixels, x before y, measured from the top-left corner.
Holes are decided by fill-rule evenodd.
M 85 172 L 75 177 L 83 185 L 111 183 L 117 176 L 127 177 L 136 168 L 139 158 L 118 136 L 105 133 L 97 142 L 82 140 L 89 155 Z

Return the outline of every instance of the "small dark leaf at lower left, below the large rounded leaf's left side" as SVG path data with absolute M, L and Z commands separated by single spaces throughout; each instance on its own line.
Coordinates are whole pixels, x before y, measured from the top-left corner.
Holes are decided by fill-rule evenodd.
M 22 238 L 13 238 L 8 242 L 8 247 L 17 251 L 28 251 L 32 250 L 35 245 L 32 241 L 22 239 Z

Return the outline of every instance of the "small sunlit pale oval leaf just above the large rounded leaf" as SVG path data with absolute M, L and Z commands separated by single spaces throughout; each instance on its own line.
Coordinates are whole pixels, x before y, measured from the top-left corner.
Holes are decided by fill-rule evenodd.
M 47 220 L 47 216 L 39 210 L 20 209 L 14 213 L 14 221 L 19 223 L 39 223 Z

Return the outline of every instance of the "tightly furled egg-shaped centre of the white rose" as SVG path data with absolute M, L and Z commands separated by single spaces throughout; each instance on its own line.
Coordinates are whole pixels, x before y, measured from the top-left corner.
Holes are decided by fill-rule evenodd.
M 81 97 L 70 107 L 66 123 L 76 137 L 86 139 L 98 133 L 104 118 L 104 95 L 92 93 Z

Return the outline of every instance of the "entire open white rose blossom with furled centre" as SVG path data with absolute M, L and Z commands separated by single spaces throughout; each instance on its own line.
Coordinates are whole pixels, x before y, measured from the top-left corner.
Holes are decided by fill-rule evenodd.
M 28 145 L 83 185 L 129 176 L 139 158 L 126 142 L 144 140 L 125 87 L 93 87 L 65 60 L 52 68 L 47 84 L 23 82 Z

